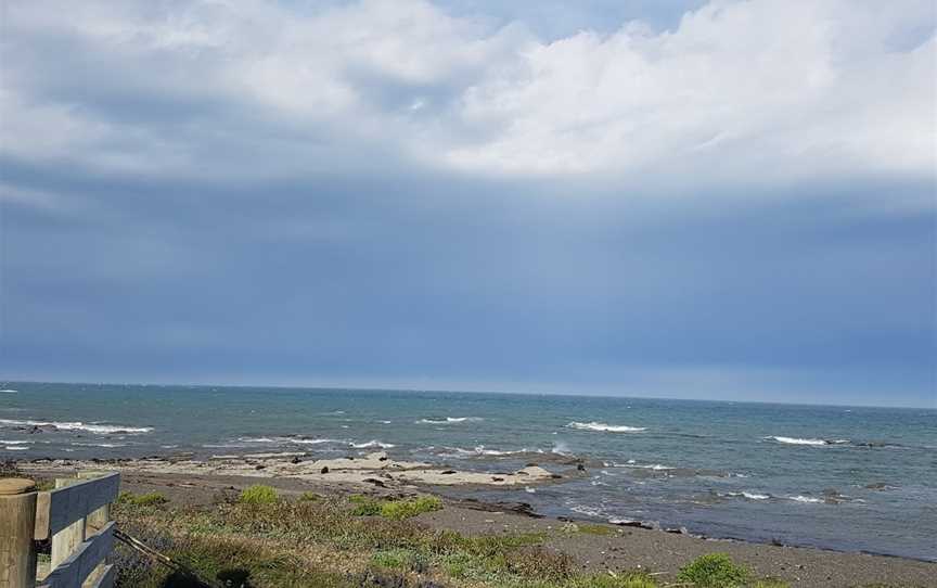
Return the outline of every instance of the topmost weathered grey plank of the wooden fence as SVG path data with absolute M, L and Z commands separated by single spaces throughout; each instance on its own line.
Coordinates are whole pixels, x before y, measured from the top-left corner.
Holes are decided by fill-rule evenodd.
M 59 488 L 48 493 L 43 498 L 39 494 L 39 504 L 36 516 L 37 539 L 44 539 L 55 534 L 79 519 L 85 519 L 91 512 L 104 504 L 113 502 L 120 489 L 120 474 L 115 472 L 103 477 L 79 482 L 74 486 Z M 43 510 L 48 500 L 48 509 Z M 46 522 L 48 521 L 48 525 Z

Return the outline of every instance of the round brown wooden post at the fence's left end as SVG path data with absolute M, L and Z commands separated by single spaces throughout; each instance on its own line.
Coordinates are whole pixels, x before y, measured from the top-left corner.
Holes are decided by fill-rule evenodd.
M 36 585 L 35 488 L 31 480 L 0 480 L 0 588 Z

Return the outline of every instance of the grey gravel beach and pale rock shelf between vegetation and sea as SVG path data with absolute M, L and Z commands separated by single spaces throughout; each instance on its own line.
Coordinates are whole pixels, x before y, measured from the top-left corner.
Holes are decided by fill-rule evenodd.
M 527 473 L 519 470 L 496 475 L 442 470 L 423 462 L 399 462 L 387 458 L 384 452 L 363 458 L 298 459 L 295 463 L 297 458 L 299 456 L 257 453 L 201 461 L 151 457 L 23 460 L 14 463 L 24 474 L 37 476 L 78 470 L 120 471 L 124 489 L 161 493 L 170 503 L 183 507 L 206 506 L 226 497 L 230 499 L 255 484 L 272 486 L 284 496 L 299 496 L 306 491 L 339 497 L 363 494 L 376 498 L 435 494 L 442 497 L 445 508 L 421 514 L 416 519 L 419 523 L 466 535 L 559 533 L 552 540 L 552 548 L 569 554 L 583 568 L 591 571 L 647 570 L 671 577 L 689 559 L 718 551 L 730 553 L 759 575 L 780 577 L 792 586 L 847 587 L 886 583 L 896 587 L 937 587 L 937 563 L 926 560 L 706 537 L 685 529 L 654 528 L 640 522 L 613 524 L 576 516 L 552 517 L 535 512 L 521 501 L 486 502 L 446 494 L 447 489 L 454 487 L 498 488 L 562 483 L 576 476 L 575 468 L 553 472 L 530 466 L 524 469 L 528 470 Z M 328 472 L 323 472 L 324 468 Z M 446 484 L 436 484 L 439 478 Z M 591 532 L 567 537 L 568 533 L 564 531 L 580 527 Z

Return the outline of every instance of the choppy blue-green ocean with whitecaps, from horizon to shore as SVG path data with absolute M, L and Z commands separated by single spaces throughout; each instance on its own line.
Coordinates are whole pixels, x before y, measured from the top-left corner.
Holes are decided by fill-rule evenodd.
M 0 459 L 308 451 L 555 485 L 444 494 L 550 515 L 937 561 L 937 410 L 440 392 L 12 383 Z

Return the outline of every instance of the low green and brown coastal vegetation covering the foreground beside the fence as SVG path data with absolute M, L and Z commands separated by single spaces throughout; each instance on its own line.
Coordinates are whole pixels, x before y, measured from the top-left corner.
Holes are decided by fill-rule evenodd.
M 278 500 L 272 488 L 260 486 L 248 488 L 236 501 L 204 507 L 141 509 L 124 499 L 113 513 L 124 531 L 183 563 L 203 580 L 220 585 L 231 578 L 233 586 L 254 588 L 657 588 L 667 584 L 645 573 L 581 571 L 568 554 L 550 548 L 551 540 L 573 533 L 572 526 L 562 532 L 466 536 L 412 521 L 416 513 L 440 508 L 434 497 L 297 498 Z M 364 511 L 370 516 L 359 514 Z M 581 525 L 576 532 L 604 534 L 596 528 L 606 527 Z M 123 547 L 118 553 L 118 587 L 197 586 L 178 574 L 168 577 L 169 572 Z M 744 568 L 724 555 L 711 554 L 685 566 L 679 581 L 699 588 L 785 588 L 783 583 L 746 585 L 746 579 Z

